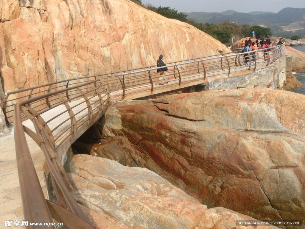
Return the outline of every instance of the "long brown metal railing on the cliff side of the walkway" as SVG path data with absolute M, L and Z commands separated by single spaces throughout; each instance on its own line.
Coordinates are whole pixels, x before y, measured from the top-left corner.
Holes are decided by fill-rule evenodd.
M 275 44 L 275 42 L 273 43 Z M 272 63 L 282 55 L 278 55 L 279 51 L 285 50 L 285 47 L 282 46 L 280 49 L 280 46 L 274 46 L 271 50 L 271 52 L 268 52 L 269 61 L 266 62 L 262 60 L 262 55 L 257 55 L 255 56 L 256 61 L 254 63 L 251 62 L 248 66 L 249 69 L 252 68 L 255 70 L 258 66 L 266 66 Z M 245 60 L 240 53 L 231 52 L 167 63 L 169 71 L 167 71 L 166 74 L 171 79 L 178 80 L 178 85 L 180 87 L 182 81 L 196 80 L 198 75 L 203 75 L 203 78 L 205 79 L 211 75 L 221 75 L 224 73 L 224 70 L 227 70 L 228 74 L 233 71 L 243 71 L 247 68 L 242 66 L 243 63 L 245 63 Z M 133 88 L 138 92 L 150 90 L 151 93 L 153 93 L 154 87 L 158 87 L 158 79 L 160 77 L 156 69 L 156 65 L 146 66 L 125 71 L 67 79 L 5 93 L 5 99 L 2 101 L 3 113 L 5 114 L 7 124 L 12 123 L 14 114 L 13 107 L 17 102 L 96 79 L 102 80 L 109 89 L 109 92 L 116 94 L 115 96 L 113 95 L 113 99 L 124 99 L 128 93 L 131 93 Z M 147 89 L 147 85 L 151 85 L 150 89 Z M 172 83 L 170 85 L 172 85 Z M 69 96 L 69 92 L 67 92 L 66 97 L 69 98 Z M 36 111 L 48 109 L 48 107 L 54 102 L 55 101 L 46 99 L 45 102 L 40 102 L 41 105 L 39 107 L 37 103 L 36 107 L 33 109 Z

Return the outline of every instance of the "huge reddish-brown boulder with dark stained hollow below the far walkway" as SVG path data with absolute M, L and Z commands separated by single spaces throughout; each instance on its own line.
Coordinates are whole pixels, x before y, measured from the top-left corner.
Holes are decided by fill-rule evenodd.
M 133 152 L 135 164 L 171 176 L 168 180 L 208 207 L 259 219 L 305 220 L 303 95 L 267 88 L 214 90 L 155 102 L 117 104 L 123 128 L 103 122 L 103 130 L 90 131 L 95 139 L 128 138 L 134 149 L 124 140 L 119 146 Z

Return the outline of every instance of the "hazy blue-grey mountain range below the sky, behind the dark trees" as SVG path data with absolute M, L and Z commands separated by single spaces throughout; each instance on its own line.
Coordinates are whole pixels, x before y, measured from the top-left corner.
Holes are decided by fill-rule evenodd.
M 230 22 L 238 21 L 239 24 L 260 25 L 268 27 L 287 25 L 297 21 L 305 20 L 305 8 L 287 7 L 278 13 L 272 12 L 250 12 L 239 13 L 234 10 L 227 10 L 221 13 L 192 12 L 185 13 L 188 19 L 194 19 L 202 23 L 219 24 L 221 21 L 229 20 Z

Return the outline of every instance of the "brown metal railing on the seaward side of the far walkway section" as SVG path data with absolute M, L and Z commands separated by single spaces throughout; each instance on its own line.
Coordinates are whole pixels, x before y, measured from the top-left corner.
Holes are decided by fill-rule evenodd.
M 267 52 L 264 52 L 267 50 Z M 188 60 L 187 62 L 177 62 L 167 64 L 168 71 L 165 74 L 170 78 L 170 84 L 162 85 L 162 88 L 177 85 L 180 88 L 183 82 L 203 80 L 216 75 L 227 75 L 244 70 L 255 71 L 257 67 L 267 66 L 285 54 L 285 46 L 277 45 L 268 49 L 258 49 L 246 53 L 225 53 L 214 56 L 207 56 Z M 246 55 L 246 56 L 245 56 Z M 139 92 L 154 93 L 160 89 L 157 73 L 158 68 L 151 67 L 143 70 L 128 70 L 124 73 L 116 74 L 121 84 L 122 90 L 119 93 L 121 99 L 127 95 L 135 95 Z

